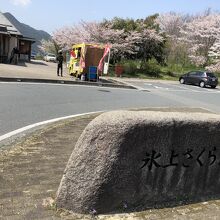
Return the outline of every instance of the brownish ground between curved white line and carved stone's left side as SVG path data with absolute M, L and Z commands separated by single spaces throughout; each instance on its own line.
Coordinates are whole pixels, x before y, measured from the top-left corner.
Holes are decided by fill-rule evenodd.
M 50 125 L 0 151 L 0 219 L 59 219 L 43 201 L 55 198 L 74 145 L 95 116 Z

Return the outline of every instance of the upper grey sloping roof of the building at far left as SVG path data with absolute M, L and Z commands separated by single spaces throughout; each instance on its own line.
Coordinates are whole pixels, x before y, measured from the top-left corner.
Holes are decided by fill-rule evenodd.
M 3 34 L 22 36 L 15 26 L 0 12 L 0 27 Z M 6 29 L 7 28 L 7 32 Z M 2 31 L 4 29 L 4 31 Z

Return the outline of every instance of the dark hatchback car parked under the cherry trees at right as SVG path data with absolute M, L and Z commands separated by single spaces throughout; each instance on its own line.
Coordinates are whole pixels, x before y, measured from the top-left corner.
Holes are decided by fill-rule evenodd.
M 218 78 L 210 72 L 191 71 L 179 78 L 181 84 L 193 84 L 200 87 L 211 86 L 215 88 L 218 85 Z

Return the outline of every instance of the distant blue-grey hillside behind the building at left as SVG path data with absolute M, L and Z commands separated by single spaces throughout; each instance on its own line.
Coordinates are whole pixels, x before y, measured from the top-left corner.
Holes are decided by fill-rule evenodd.
M 51 36 L 43 30 L 36 30 L 27 24 L 20 23 L 12 14 L 3 13 L 5 17 L 20 31 L 24 37 L 34 38 L 36 42 L 32 45 L 32 51 L 39 52 L 38 45 L 42 39 L 48 40 Z

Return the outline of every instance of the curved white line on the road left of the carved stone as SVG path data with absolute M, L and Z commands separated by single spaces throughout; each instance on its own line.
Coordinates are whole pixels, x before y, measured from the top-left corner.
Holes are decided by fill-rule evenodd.
M 16 129 L 14 131 L 11 131 L 9 133 L 6 133 L 6 134 L 0 136 L 0 142 L 5 140 L 5 139 L 7 139 L 7 138 L 10 138 L 10 137 L 12 137 L 14 135 L 20 134 L 20 133 L 22 133 L 24 131 L 30 130 L 32 128 L 35 128 L 35 127 L 38 127 L 38 126 L 41 126 L 41 125 L 46 125 L 46 124 L 57 122 L 57 121 L 64 120 L 64 119 L 76 118 L 76 117 L 79 117 L 79 116 L 85 116 L 85 115 L 102 113 L 102 112 L 104 112 L 104 111 L 87 112 L 87 113 L 69 115 L 69 116 L 64 116 L 64 117 L 60 117 L 60 118 L 54 118 L 54 119 L 50 119 L 50 120 L 46 120 L 46 121 L 41 121 L 41 122 L 38 122 L 38 123 L 35 123 L 35 124 L 31 124 L 31 125 L 28 125 L 28 126 L 25 126 L 25 127 L 19 128 L 19 129 Z

